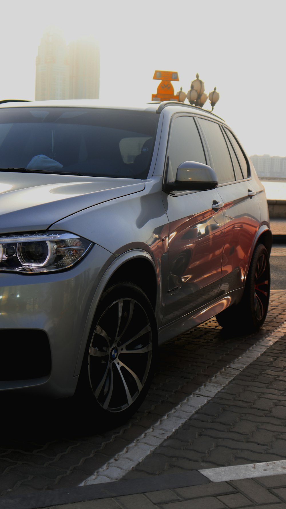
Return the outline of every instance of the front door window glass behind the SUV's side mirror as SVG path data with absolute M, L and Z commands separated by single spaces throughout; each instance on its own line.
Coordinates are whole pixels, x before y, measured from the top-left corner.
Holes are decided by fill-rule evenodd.
M 204 151 L 193 117 L 176 117 L 171 124 L 168 180 L 175 180 L 178 166 L 185 161 L 205 164 Z

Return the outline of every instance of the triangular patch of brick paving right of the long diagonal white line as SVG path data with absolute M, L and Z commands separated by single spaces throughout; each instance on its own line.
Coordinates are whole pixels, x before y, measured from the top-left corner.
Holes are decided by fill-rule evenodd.
M 286 458 L 285 366 L 281 338 L 125 478 Z

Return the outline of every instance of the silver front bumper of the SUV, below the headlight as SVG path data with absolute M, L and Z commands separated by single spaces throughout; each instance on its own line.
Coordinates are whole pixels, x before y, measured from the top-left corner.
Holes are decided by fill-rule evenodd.
M 2 333 L 5 329 L 19 329 L 19 334 L 23 329 L 44 330 L 52 354 L 49 377 L 0 381 L 0 390 L 31 386 L 46 394 L 73 394 L 74 369 L 85 325 L 91 325 L 90 309 L 96 289 L 113 260 L 109 251 L 94 245 L 88 256 L 64 272 L 28 277 L 0 272 Z

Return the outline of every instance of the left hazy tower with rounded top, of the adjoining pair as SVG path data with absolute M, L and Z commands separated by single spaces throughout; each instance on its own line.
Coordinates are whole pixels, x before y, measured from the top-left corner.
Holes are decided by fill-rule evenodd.
M 67 99 L 69 66 L 66 43 L 58 30 L 43 35 L 36 58 L 36 101 Z

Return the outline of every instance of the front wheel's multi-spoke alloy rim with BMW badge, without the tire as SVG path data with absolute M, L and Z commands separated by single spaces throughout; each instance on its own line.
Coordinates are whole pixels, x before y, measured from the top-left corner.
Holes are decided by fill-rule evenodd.
M 122 412 L 141 393 L 152 359 L 152 329 L 135 299 L 114 300 L 98 319 L 88 354 L 90 387 L 103 410 Z

